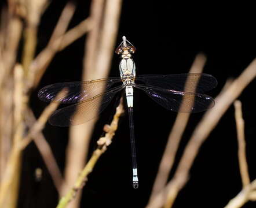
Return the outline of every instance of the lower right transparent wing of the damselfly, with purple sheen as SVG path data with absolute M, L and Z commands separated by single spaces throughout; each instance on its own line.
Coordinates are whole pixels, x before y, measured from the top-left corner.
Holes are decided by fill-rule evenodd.
M 142 84 L 136 84 L 134 87 L 146 92 L 159 105 L 174 112 L 197 113 L 215 105 L 214 99 L 205 94 L 166 90 Z

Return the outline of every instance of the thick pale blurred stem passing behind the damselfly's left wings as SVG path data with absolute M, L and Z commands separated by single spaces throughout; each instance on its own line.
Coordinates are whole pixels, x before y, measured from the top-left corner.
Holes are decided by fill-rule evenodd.
M 111 58 L 114 54 L 116 32 L 120 16 L 121 0 L 94 0 L 90 14 L 93 28 L 87 35 L 83 80 L 102 78 L 108 75 Z M 104 14 L 104 15 L 103 15 Z M 95 121 L 72 127 L 67 148 L 65 181 L 67 187 L 74 184 L 75 178 L 85 164 L 90 135 Z M 65 193 L 67 189 L 64 189 Z M 70 207 L 78 207 L 79 197 Z

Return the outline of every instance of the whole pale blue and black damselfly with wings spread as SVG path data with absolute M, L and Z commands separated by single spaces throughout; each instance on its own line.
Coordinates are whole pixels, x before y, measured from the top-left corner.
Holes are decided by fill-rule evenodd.
M 138 168 L 133 120 L 133 91 L 144 91 L 156 103 L 167 110 L 181 113 L 197 113 L 215 105 L 211 96 L 203 94 L 217 86 L 214 76 L 206 73 L 181 73 L 171 75 L 138 75 L 132 58 L 136 48 L 125 36 L 116 48 L 120 55 L 120 77 L 91 81 L 55 83 L 43 87 L 38 98 L 52 102 L 58 92 L 68 88 L 68 93 L 57 102 L 72 104 L 56 110 L 49 118 L 52 125 L 68 127 L 92 120 L 108 106 L 118 92 L 125 92 L 130 126 L 133 188 L 138 188 Z

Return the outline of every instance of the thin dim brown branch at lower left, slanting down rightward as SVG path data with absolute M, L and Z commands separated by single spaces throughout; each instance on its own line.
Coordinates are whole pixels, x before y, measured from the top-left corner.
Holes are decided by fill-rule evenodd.
M 36 118 L 31 109 L 26 110 L 25 115 L 25 123 L 31 129 L 32 125 L 36 122 Z M 58 168 L 57 162 L 54 158 L 52 150 L 47 143 L 45 137 L 43 136 L 42 132 L 38 132 L 34 137 L 33 140 L 35 142 L 36 147 L 39 150 L 39 153 L 42 155 L 43 161 L 52 176 L 53 183 L 58 191 L 58 195 L 60 195 L 61 185 L 63 185 L 63 177 L 61 175 L 60 169 Z

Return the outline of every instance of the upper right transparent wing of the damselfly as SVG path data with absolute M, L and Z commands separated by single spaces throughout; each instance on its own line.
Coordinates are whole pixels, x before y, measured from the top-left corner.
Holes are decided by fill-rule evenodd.
M 215 77 L 206 73 L 183 73 L 173 75 L 140 75 L 136 81 L 175 91 L 206 92 L 217 86 Z

